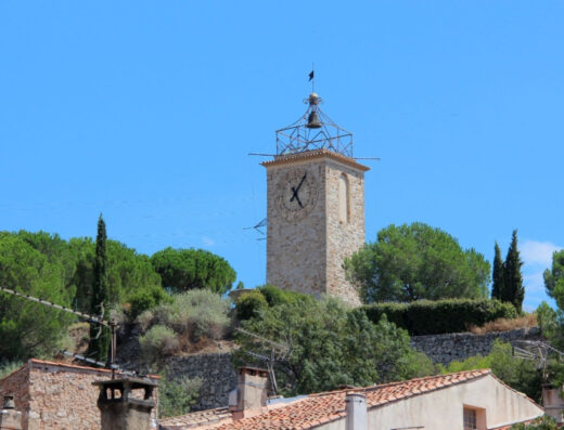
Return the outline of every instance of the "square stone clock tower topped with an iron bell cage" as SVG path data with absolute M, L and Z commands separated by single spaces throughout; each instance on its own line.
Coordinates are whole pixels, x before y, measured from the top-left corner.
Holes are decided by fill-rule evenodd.
M 364 244 L 364 172 L 352 134 L 326 117 L 311 93 L 294 125 L 277 131 L 267 169 L 267 283 L 336 296 L 357 305 L 343 262 Z

